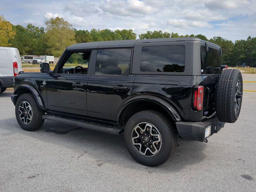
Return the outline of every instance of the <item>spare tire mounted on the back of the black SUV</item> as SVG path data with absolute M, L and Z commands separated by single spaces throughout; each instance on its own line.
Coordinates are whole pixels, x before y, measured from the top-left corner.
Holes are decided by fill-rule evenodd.
M 237 69 L 226 69 L 220 74 L 215 93 L 216 114 L 220 121 L 234 123 L 242 105 L 243 79 Z

